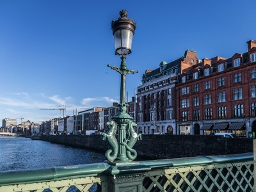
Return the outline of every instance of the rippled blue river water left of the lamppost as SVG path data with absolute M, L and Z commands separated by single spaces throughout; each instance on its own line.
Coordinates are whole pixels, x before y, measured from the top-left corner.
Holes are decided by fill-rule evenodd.
M 0 171 L 100 163 L 104 154 L 28 138 L 0 137 Z

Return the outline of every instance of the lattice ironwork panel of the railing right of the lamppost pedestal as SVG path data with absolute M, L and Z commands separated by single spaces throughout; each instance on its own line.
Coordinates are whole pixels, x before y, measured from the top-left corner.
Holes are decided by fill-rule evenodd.
M 143 191 L 253 191 L 253 161 L 148 172 Z

